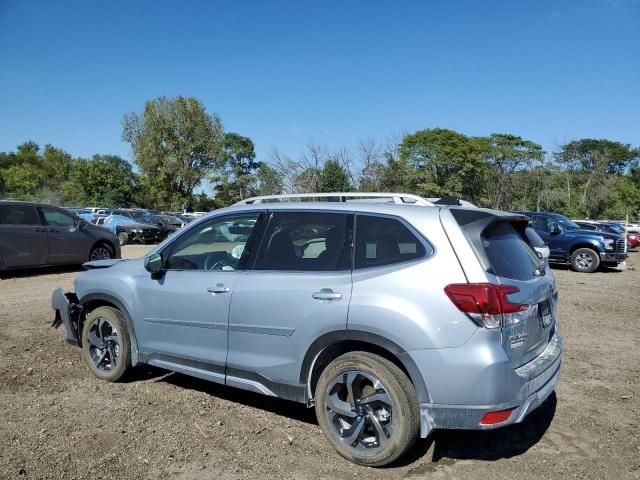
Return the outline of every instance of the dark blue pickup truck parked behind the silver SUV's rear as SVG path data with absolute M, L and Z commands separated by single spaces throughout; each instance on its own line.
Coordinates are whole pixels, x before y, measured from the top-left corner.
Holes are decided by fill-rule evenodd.
M 621 235 L 584 230 L 557 213 L 517 213 L 531 218 L 531 226 L 549 245 L 551 263 L 568 263 L 576 272 L 591 273 L 600 265 L 616 267 L 627 258 Z

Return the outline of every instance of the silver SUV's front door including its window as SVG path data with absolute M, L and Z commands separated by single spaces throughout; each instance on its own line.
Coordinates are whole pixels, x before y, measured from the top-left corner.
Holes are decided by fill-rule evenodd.
M 146 363 L 224 383 L 229 303 L 258 218 L 214 217 L 162 250 L 164 272 L 136 287 L 136 336 Z

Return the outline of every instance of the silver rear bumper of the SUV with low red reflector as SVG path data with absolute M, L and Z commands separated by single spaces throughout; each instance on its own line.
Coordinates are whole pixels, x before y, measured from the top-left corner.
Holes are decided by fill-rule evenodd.
M 538 357 L 520 368 L 515 370 L 512 368 L 512 375 L 504 374 L 504 378 L 501 379 L 500 372 L 506 373 L 501 365 L 495 365 L 497 368 L 487 366 L 481 373 L 485 377 L 480 376 L 476 380 L 489 385 L 489 389 L 484 393 L 487 398 L 491 397 L 490 389 L 493 386 L 495 398 L 502 401 L 481 404 L 422 403 L 420 405 L 422 436 L 438 428 L 485 430 L 522 422 L 553 392 L 560 376 L 561 364 L 562 338 L 555 334 L 547 348 Z M 446 375 L 446 372 L 441 371 L 441 374 Z M 502 385 L 506 385 L 506 389 L 503 389 Z M 469 396 L 473 397 L 474 386 L 469 385 L 468 388 Z M 507 393 L 508 391 L 511 393 Z M 505 399 L 505 396 L 509 398 Z M 511 410 L 506 420 L 492 424 L 481 423 L 486 414 L 505 410 Z

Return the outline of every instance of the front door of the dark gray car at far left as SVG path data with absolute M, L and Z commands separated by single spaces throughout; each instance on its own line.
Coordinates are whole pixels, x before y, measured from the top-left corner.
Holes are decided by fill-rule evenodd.
M 76 217 L 59 208 L 38 208 L 47 226 L 49 263 L 56 265 L 88 261 L 92 241 L 80 230 Z

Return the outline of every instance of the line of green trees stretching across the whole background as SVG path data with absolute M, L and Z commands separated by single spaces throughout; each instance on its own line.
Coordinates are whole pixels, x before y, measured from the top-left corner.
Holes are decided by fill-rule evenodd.
M 133 165 L 115 155 L 73 158 L 32 141 L 0 152 L 0 198 L 210 210 L 255 195 L 396 191 L 574 218 L 640 216 L 640 148 L 613 140 L 573 140 L 545 152 L 510 133 L 428 128 L 355 149 L 310 142 L 295 158 L 273 148 L 258 161 L 251 139 L 225 132 L 196 98 L 150 100 L 122 126 Z M 195 193 L 206 186 L 213 195 Z

